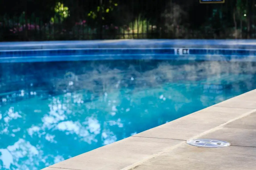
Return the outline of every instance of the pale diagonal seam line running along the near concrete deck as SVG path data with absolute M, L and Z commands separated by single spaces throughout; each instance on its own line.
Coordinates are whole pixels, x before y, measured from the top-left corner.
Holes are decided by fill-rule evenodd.
M 201 133 L 201 134 L 199 134 L 199 135 L 196 135 L 196 136 L 194 136 L 194 137 L 192 137 L 192 138 L 190 138 L 190 139 L 197 139 L 197 138 L 199 138 L 199 137 L 201 137 L 201 136 L 204 136 L 204 135 L 206 135 L 206 134 L 208 134 L 208 133 L 211 133 L 211 132 L 214 132 L 214 131 L 216 131 L 216 130 L 219 130 L 219 129 L 221 129 L 223 126 L 227 125 L 228 123 L 231 123 L 231 122 L 233 122 L 233 121 L 236 121 L 236 120 L 238 120 L 238 119 L 241 119 L 242 117 L 248 116 L 248 115 L 250 115 L 251 113 L 254 113 L 254 112 L 256 112 L 256 109 L 251 110 L 251 111 L 249 111 L 249 112 L 247 112 L 247 113 L 244 113 L 244 114 L 242 114 L 242 115 L 240 115 L 240 116 L 238 116 L 238 117 L 235 117 L 234 119 L 231 119 L 231 120 L 229 120 L 229 121 L 227 121 L 227 122 L 225 122 L 225 123 L 223 123 L 223 124 L 221 124 L 221 125 L 219 125 L 219 126 L 217 126 L 217 127 L 215 127 L 215 128 L 209 129 L 209 130 L 207 130 L 207 131 L 205 131 L 205 132 L 203 132 L 203 133 Z M 189 140 L 189 139 L 188 139 L 188 140 Z M 175 149 L 175 148 L 178 148 L 179 146 L 182 146 L 184 143 L 185 143 L 185 142 L 180 142 L 180 143 L 177 144 L 177 145 L 174 145 L 174 146 L 172 146 L 172 147 L 170 147 L 170 148 L 168 148 L 168 149 L 166 149 L 166 150 L 164 150 L 164 151 L 161 151 L 161 152 L 158 152 L 158 153 L 156 153 L 156 154 L 153 154 L 153 155 L 149 156 L 148 158 L 146 158 L 146 159 L 144 159 L 144 160 L 141 160 L 141 161 L 138 161 L 138 162 L 136 162 L 136 163 L 134 163 L 134 164 L 132 164 L 132 165 L 130 165 L 130 166 L 127 166 L 127 167 L 125 167 L 125 168 L 123 168 L 123 169 L 121 169 L 121 170 L 131 170 L 131 169 L 133 169 L 134 167 L 136 167 L 136 166 L 138 166 L 138 165 L 141 165 L 142 163 L 144 163 L 144 162 L 146 162 L 146 161 L 148 161 L 148 160 L 150 160 L 150 159 L 152 159 L 152 158 L 154 158 L 154 157 L 157 157 L 157 156 L 159 156 L 159 155 L 161 155 L 161 154 L 163 154 L 163 153 L 166 153 L 166 152 L 168 152 L 168 151 L 170 151 L 170 150 L 173 150 L 173 149 Z

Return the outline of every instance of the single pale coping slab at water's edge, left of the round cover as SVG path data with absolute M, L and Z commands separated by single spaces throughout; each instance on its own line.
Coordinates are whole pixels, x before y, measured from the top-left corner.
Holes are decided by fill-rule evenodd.
M 92 150 L 86 154 L 54 164 L 50 167 L 79 170 L 119 170 L 182 141 L 157 138 L 130 137 Z

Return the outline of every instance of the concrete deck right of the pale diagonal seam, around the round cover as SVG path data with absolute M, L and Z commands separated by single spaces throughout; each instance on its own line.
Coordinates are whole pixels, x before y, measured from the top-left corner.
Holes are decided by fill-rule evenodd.
M 231 146 L 202 148 L 184 143 L 134 169 L 256 169 L 255 118 L 254 112 L 200 137 L 224 140 L 230 142 Z

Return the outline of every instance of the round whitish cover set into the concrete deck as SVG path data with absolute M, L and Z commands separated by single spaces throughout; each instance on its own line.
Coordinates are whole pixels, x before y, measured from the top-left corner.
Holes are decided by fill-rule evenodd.
M 207 147 L 207 148 L 219 148 L 229 146 L 230 143 L 222 140 L 215 139 L 193 139 L 188 140 L 187 144 L 198 147 Z

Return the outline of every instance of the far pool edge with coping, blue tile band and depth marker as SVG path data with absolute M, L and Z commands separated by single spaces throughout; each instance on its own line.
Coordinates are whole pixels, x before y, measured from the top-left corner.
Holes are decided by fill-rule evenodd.
M 256 61 L 254 40 L 105 40 L 0 43 L 0 62 L 175 59 Z

